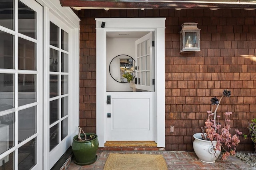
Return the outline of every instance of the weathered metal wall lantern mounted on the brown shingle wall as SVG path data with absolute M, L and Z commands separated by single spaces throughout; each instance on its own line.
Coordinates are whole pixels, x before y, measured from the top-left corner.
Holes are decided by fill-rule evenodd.
M 183 23 L 180 31 L 180 53 L 200 51 L 200 29 L 197 23 Z

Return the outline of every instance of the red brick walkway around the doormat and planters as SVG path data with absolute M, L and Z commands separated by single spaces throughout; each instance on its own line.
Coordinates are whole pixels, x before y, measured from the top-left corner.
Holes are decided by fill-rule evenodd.
M 228 160 L 216 160 L 215 163 L 208 164 L 198 160 L 194 152 L 179 151 L 103 151 L 97 153 L 98 159 L 94 164 L 79 166 L 73 161 L 70 162 L 66 170 L 102 170 L 110 153 L 141 153 L 141 154 L 162 154 L 166 160 L 168 170 L 252 170 L 250 166 L 236 158 L 230 156 Z M 146 170 L 146 168 L 145 168 Z

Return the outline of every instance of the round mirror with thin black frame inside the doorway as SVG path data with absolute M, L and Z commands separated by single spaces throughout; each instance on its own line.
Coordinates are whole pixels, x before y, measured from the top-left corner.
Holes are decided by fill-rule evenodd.
M 126 78 L 123 77 L 123 74 L 130 73 L 132 77 L 135 77 L 135 60 L 129 55 L 118 55 L 112 59 L 109 64 L 109 73 L 110 76 L 120 83 L 128 82 Z

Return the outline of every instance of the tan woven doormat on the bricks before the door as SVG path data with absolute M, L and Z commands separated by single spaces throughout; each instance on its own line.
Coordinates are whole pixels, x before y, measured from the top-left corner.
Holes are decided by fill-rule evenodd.
M 167 170 L 162 154 L 110 153 L 103 170 Z

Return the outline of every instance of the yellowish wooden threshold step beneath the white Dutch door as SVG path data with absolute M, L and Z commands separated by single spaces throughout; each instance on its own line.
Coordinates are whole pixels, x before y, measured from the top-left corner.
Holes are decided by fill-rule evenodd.
M 105 147 L 156 147 L 155 141 L 106 141 Z

